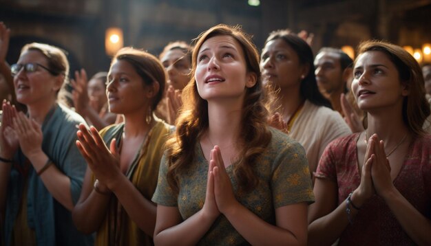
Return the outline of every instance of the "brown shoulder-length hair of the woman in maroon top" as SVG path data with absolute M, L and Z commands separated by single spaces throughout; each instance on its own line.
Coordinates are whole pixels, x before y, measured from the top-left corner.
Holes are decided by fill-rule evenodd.
M 427 134 L 423 123 L 431 113 L 430 104 L 425 98 L 425 82 L 419 63 L 406 50 L 384 41 L 365 41 L 358 47 L 357 59 L 365 52 L 382 52 L 397 67 L 401 84 L 409 90 L 403 99 L 403 122 L 414 135 Z M 355 67 L 355 66 L 354 66 Z M 364 119 L 366 122 L 366 118 Z

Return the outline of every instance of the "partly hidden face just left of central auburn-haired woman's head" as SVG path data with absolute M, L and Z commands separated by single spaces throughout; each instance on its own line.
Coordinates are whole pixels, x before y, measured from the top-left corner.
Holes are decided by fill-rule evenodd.
M 167 83 L 174 89 L 182 90 L 190 80 L 189 57 L 181 49 L 171 49 L 160 61 L 168 75 Z

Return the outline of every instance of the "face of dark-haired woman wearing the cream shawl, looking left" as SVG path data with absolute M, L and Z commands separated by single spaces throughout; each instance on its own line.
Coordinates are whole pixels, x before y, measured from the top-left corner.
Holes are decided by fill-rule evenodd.
M 306 75 L 306 68 L 299 63 L 297 53 L 282 38 L 266 43 L 260 70 L 264 82 L 271 82 L 277 88 L 299 87 Z

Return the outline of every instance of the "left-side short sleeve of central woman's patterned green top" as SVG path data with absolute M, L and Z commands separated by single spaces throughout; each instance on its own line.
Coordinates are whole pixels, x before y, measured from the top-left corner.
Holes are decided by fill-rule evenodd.
M 162 160 L 160 161 L 157 188 L 151 201 L 164 206 L 178 207 L 178 195 L 174 193 L 167 182 L 167 168 L 168 161 L 166 156 L 163 155 Z

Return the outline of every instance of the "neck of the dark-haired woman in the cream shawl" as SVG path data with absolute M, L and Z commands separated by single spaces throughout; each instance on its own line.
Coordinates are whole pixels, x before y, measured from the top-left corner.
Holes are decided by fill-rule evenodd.
M 304 98 L 299 93 L 299 87 L 284 88 L 280 89 L 277 94 L 275 107 L 280 106 L 277 111 L 281 113 L 284 121 L 287 122 L 304 101 Z

